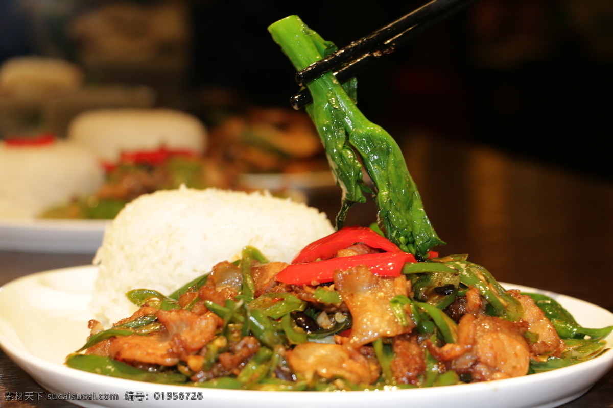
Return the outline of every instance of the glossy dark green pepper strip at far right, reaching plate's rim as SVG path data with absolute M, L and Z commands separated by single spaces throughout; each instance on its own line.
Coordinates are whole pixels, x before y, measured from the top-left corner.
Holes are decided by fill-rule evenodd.
M 590 336 L 592 339 L 600 340 L 613 331 L 613 326 L 603 328 L 582 327 L 568 310 L 549 296 L 536 293 L 528 293 L 527 295 L 535 301 L 536 306 L 539 306 L 544 311 L 545 316 L 551 321 L 558 335 L 563 339 L 581 339 L 585 336 Z

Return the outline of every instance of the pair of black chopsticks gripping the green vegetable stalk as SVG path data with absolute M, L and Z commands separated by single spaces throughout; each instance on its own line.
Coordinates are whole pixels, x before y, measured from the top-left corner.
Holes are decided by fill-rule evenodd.
M 476 0 L 432 0 L 387 26 L 309 65 L 296 74 L 296 82 L 299 85 L 306 84 L 337 68 L 334 75 L 341 83 L 345 82 L 357 72 L 364 70 L 381 57 L 392 54 L 417 35 L 474 1 Z M 311 95 L 307 89 L 303 89 L 290 98 L 290 104 L 294 109 L 300 109 L 309 102 L 311 102 Z

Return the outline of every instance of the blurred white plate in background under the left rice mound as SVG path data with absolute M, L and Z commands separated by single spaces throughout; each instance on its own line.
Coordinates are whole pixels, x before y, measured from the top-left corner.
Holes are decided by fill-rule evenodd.
M 46 253 L 95 253 L 106 220 L 0 218 L 0 250 Z

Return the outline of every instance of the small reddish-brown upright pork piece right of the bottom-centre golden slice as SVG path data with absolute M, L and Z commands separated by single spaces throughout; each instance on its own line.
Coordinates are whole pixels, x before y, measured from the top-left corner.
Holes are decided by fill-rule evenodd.
M 417 384 L 425 371 L 424 350 L 417 342 L 417 336 L 395 336 L 392 347 L 395 357 L 390 368 L 395 379 L 403 384 Z

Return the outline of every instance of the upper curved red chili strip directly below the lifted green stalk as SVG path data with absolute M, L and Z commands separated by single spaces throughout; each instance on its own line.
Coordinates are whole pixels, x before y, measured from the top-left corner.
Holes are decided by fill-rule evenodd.
M 383 250 L 384 252 L 400 251 L 400 248 L 395 243 L 377 234 L 372 229 L 362 226 L 351 226 L 341 228 L 329 236 L 310 243 L 292 259 L 292 264 L 303 264 L 305 262 L 316 261 L 317 259 L 330 259 L 339 250 L 348 248 L 354 243 L 364 243 L 371 248 Z

